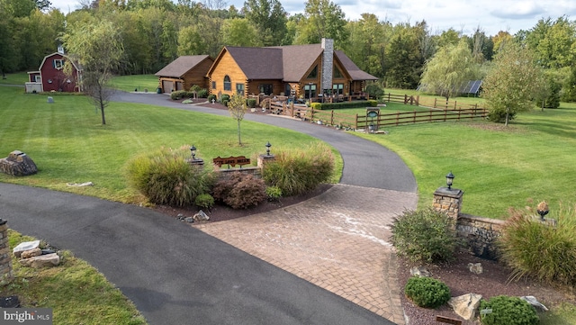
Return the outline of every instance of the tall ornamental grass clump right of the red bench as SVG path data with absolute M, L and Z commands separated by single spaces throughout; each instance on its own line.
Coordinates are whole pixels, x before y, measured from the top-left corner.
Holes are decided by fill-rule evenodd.
M 276 154 L 262 169 L 266 185 L 277 186 L 286 196 L 311 192 L 328 182 L 334 172 L 334 154 L 323 144 Z

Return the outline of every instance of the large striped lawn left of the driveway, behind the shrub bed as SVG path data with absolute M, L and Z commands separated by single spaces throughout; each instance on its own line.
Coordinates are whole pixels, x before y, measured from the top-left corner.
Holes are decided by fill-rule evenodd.
M 39 173 L 0 181 L 34 185 L 86 194 L 124 203 L 141 202 L 126 182 L 124 168 L 130 158 L 159 149 L 188 149 L 209 164 L 212 158 L 246 156 L 256 164 L 258 154 L 297 148 L 320 140 L 308 135 L 257 122 L 241 122 L 242 146 L 238 146 L 237 122 L 231 117 L 186 112 L 144 104 L 112 103 L 105 110 L 106 125 L 85 96 L 23 94 L 0 87 L 0 156 L 21 150 L 34 160 Z M 337 154 L 338 155 L 338 154 Z M 342 160 L 337 156 L 338 181 Z M 68 184 L 93 182 L 94 186 Z

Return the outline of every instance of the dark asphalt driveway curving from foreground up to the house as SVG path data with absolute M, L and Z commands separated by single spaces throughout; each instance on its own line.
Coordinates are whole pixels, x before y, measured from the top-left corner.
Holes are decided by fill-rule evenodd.
M 183 108 L 164 95 L 119 94 L 116 100 Z M 410 195 L 416 191 L 401 159 L 373 142 L 278 117 L 247 114 L 246 119 L 329 142 L 344 158 L 343 184 Z M 358 173 L 374 166 L 380 171 L 375 175 Z M 0 206 L 14 230 L 70 248 L 95 266 L 135 302 L 150 324 L 391 324 L 338 294 L 149 209 L 7 184 L 0 184 Z

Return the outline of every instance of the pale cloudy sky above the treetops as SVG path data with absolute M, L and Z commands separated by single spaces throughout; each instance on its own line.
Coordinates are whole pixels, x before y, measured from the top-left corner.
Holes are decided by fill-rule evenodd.
M 201 1 L 201 0 L 198 0 Z M 245 0 L 224 0 L 240 9 Z M 347 20 L 359 20 L 361 14 L 375 14 L 392 24 L 414 24 L 425 20 L 430 32 L 439 34 L 450 28 L 472 35 L 480 27 L 486 35 L 500 31 L 515 34 L 530 30 L 539 19 L 555 20 L 566 15 L 576 19 L 574 0 L 331 0 L 342 8 Z M 50 0 L 52 6 L 67 14 L 80 7 L 79 0 Z M 289 14 L 303 13 L 305 0 L 280 0 Z

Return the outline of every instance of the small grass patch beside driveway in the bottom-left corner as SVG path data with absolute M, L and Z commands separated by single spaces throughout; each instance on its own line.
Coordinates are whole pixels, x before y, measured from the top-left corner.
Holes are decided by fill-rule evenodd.
M 10 248 L 34 240 L 9 230 Z M 51 308 L 54 324 L 145 325 L 146 320 L 121 291 L 94 267 L 69 251 L 61 263 L 40 269 L 13 259 L 14 280 L 0 287 L 0 296 L 17 295 L 26 308 Z

